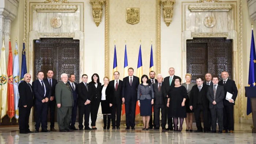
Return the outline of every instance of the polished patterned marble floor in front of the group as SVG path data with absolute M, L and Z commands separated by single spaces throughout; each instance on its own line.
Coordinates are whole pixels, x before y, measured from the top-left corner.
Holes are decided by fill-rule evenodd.
M 125 130 L 125 126 L 121 126 L 120 130 L 103 130 L 102 123 L 96 125 L 98 130 L 64 133 L 19 134 L 18 127 L 0 128 L 0 142 L 1 144 L 256 144 L 256 133 L 251 133 L 251 125 L 248 124 L 235 124 L 235 133 L 222 134 L 185 132 L 186 124 L 183 125 L 182 132 L 145 131 L 141 130 L 142 126 L 136 126 L 136 130 Z M 196 130 L 195 123 L 193 128 Z M 30 130 L 34 130 L 32 125 Z

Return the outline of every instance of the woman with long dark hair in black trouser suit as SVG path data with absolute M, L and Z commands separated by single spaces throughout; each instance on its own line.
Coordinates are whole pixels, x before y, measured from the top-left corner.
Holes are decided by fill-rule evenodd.
M 101 102 L 101 83 L 99 82 L 99 75 L 94 73 L 91 76 L 91 82 L 88 84 L 91 91 L 91 127 L 95 127 L 95 122 L 98 115 L 99 103 Z

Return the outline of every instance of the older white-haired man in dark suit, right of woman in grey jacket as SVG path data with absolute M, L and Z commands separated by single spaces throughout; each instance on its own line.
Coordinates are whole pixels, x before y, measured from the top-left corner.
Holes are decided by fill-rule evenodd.
M 154 88 L 154 130 L 158 130 L 160 127 L 160 109 L 162 114 L 162 130 L 165 130 L 165 124 L 166 124 L 166 105 L 165 105 L 165 98 L 163 96 L 162 87 L 163 86 L 163 76 L 161 74 L 157 75 L 157 82 L 153 84 Z

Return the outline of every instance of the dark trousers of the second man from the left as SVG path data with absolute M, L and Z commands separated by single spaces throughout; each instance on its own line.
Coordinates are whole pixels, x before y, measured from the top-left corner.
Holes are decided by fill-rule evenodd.
M 40 124 L 42 129 L 47 129 L 47 113 L 49 102 L 35 105 L 35 130 L 39 130 Z

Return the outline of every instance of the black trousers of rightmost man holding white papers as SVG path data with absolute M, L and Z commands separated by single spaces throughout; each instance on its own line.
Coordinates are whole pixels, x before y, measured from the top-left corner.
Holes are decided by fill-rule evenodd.
M 224 130 L 234 130 L 234 106 L 225 106 L 223 109 L 223 127 Z

